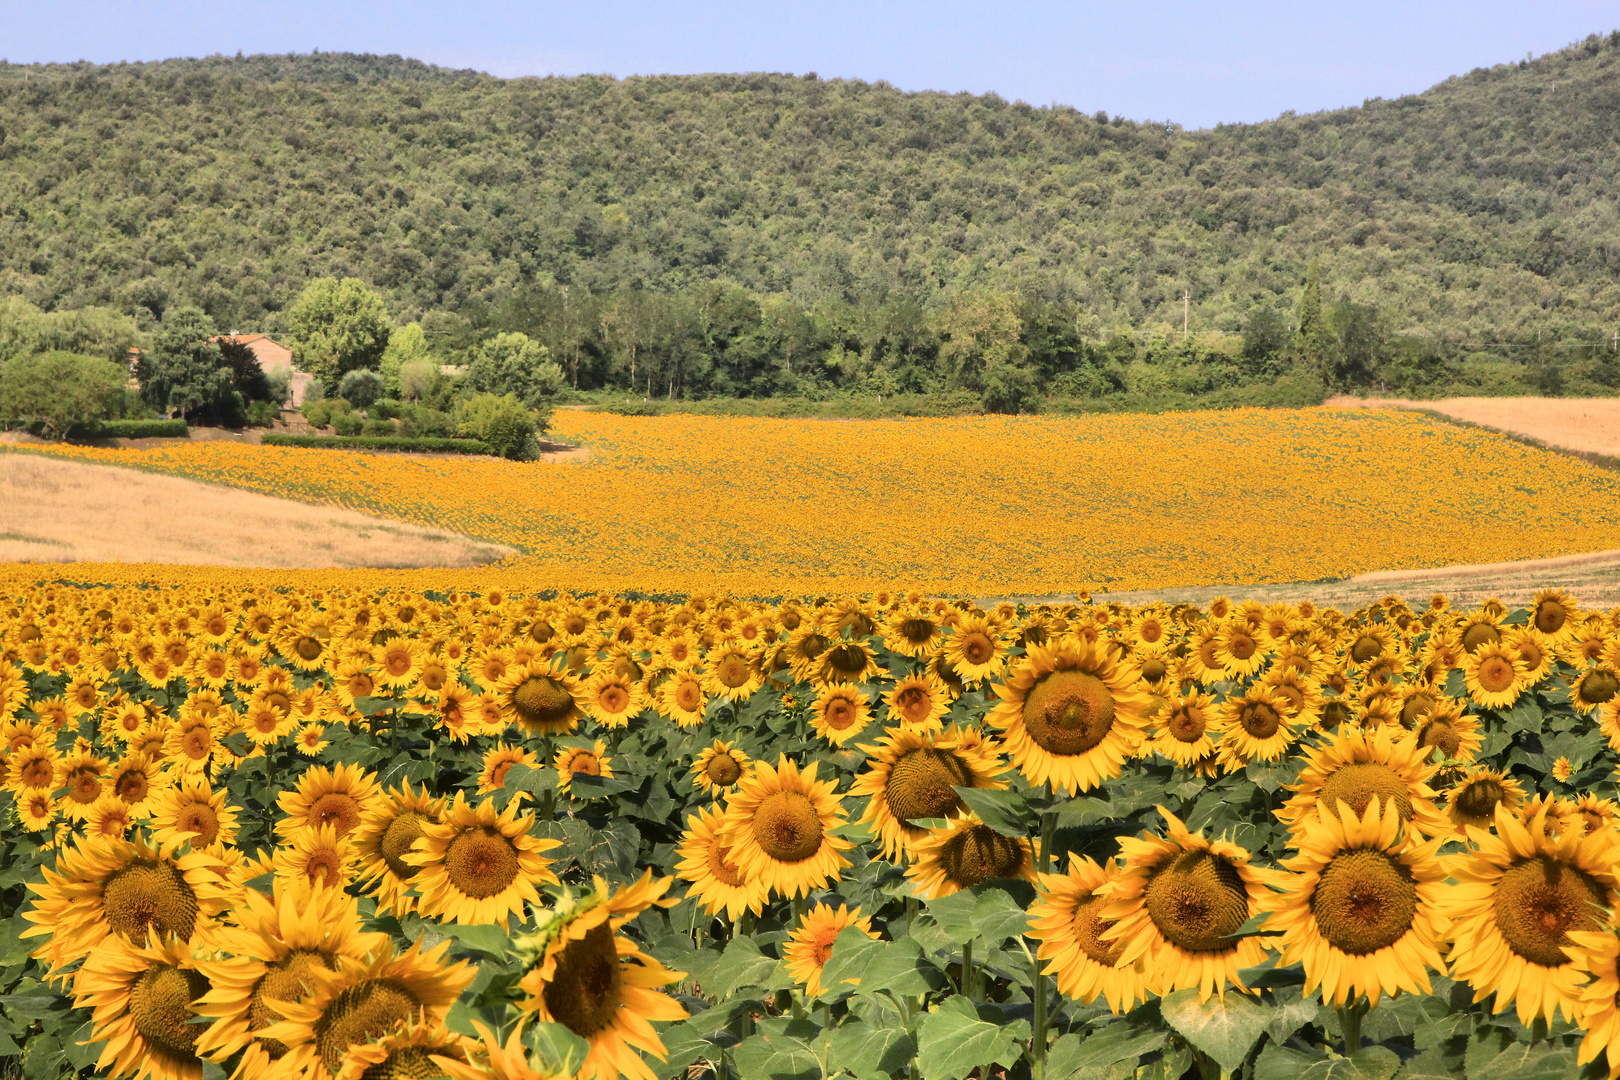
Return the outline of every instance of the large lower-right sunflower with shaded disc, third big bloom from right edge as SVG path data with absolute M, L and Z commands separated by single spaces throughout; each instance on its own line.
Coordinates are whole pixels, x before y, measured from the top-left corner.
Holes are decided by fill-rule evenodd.
M 1097 913 L 1113 921 L 1103 942 L 1118 942 L 1119 965 L 1142 965 L 1153 993 L 1197 988 L 1199 1001 L 1243 988 L 1238 973 L 1265 955 L 1259 938 L 1234 938 L 1268 895 L 1272 871 L 1228 840 L 1189 832 L 1158 808 L 1166 836 L 1121 837 L 1124 868 L 1108 882 Z

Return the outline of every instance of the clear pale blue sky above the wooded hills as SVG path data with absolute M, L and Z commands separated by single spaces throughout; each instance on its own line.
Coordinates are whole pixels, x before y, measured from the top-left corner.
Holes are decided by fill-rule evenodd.
M 1396 97 L 1617 28 L 1615 0 L 0 0 L 0 58 L 321 49 L 502 76 L 816 71 L 1192 128 Z

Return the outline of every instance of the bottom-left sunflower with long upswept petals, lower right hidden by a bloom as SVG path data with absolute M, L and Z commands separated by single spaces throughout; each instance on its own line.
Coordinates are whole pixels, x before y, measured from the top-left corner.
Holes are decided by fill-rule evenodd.
M 264 1075 L 287 1048 L 259 1035 L 282 1020 L 269 1002 L 296 1001 L 314 989 L 311 970 L 335 972 L 342 962 L 364 963 L 389 949 L 387 934 L 360 931 L 358 900 L 340 889 L 313 887 L 306 879 L 277 878 L 274 894 L 245 889 L 235 926 L 220 931 L 222 952 L 198 960 L 209 993 L 198 1015 L 198 1052 L 224 1061 L 245 1051 L 233 1080 Z

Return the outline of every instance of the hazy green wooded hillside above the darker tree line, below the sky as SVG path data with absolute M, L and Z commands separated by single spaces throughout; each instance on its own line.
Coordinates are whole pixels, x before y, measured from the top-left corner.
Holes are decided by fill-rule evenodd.
M 0 295 L 274 329 L 526 282 L 799 304 L 995 285 L 1098 332 L 1328 296 L 1393 329 L 1620 316 L 1620 32 L 1396 100 L 1210 131 L 813 74 L 496 79 L 395 57 L 0 65 Z

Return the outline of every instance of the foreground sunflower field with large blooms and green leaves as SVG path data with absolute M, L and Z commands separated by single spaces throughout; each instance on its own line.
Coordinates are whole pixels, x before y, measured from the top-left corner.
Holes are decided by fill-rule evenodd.
M 1620 1075 L 1620 610 L 19 583 L 0 1069 Z

